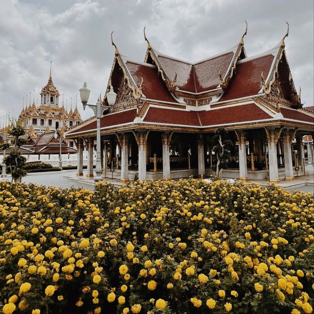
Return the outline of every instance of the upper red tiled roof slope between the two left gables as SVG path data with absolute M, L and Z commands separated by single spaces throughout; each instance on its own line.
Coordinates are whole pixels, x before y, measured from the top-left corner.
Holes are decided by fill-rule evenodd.
M 156 66 L 131 61 L 127 61 L 126 66 L 137 86 L 140 85 L 141 79 L 143 78 L 142 92 L 147 98 L 178 103 L 171 95 L 162 79 L 158 78 Z

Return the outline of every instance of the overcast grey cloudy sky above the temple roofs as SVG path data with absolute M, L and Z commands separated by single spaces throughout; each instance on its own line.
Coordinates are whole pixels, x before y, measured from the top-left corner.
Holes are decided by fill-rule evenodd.
M 114 49 L 143 61 L 146 42 L 160 52 L 197 61 L 237 45 L 244 32 L 248 56 L 276 46 L 290 24 L 286 52 L 302 102 L 313 105 L 312 0 L 0 0 L 0 117 L 18 115 L 23 97 L 40 98 L 52 60 L 52 78 L 64 103 L 83 118 L 78 89 L 84 80 L 90 102 L 104 94 Z M 31 96 L 33 100 L 33 94 Z

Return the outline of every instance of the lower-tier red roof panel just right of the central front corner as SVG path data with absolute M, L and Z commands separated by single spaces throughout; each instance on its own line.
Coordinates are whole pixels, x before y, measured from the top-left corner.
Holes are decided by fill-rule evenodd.
M 229 124 L 245 121 L 255 121 L 272 118 L 255 104 L 246 104 L 200 111 L 199 117 L 203 126 Z

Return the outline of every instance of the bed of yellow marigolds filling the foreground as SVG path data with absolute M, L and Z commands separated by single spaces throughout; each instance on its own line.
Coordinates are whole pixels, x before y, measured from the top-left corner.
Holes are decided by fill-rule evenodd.
M 314 197 L 216 181 L 0 183 L 0 310 L 312 313 Z

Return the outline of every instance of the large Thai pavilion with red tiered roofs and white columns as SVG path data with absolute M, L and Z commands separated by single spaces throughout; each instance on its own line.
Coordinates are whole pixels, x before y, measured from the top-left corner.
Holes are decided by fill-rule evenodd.
M 105 94 L 112 86 L 117 97 L 101 118 L 103 175 L 122 182 L 209 176 L 216 162 L 213 133 L 224 127 L 235 143 L 224 177 L 278 182 L 300 176 L 302 137 L 313 135 L 314 113 L 302 107 L 293 82 L 288 31 L 276 47 L 250 57 L 245 35 L 235 47 L 195 63 L 155 50 L 145 29 L 144 62 L 125 57 L 112 41 Z M 65 134 L 76 141 L 79 176 L 83 144 L 89 149 L 92 177 L 96 118 Z

